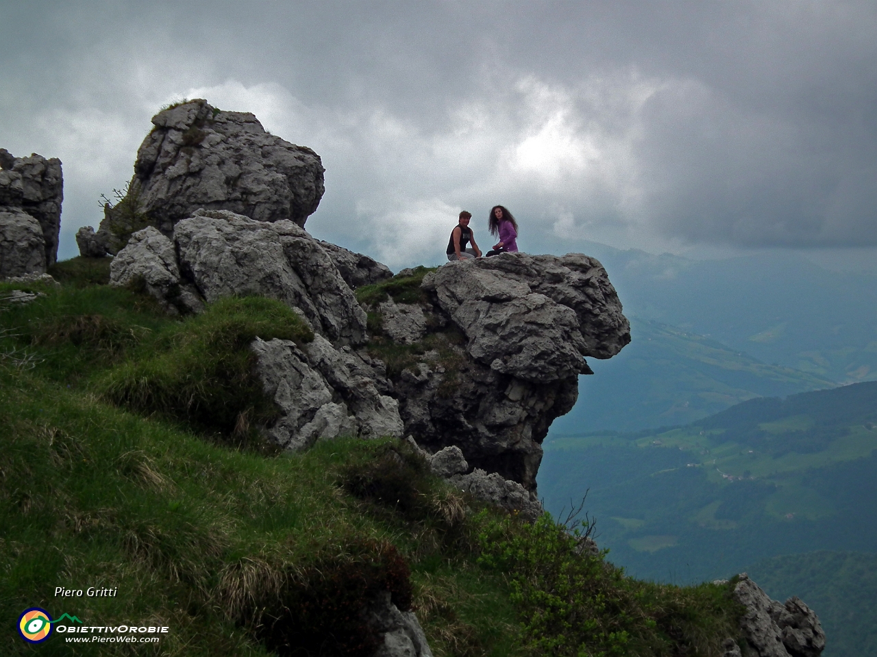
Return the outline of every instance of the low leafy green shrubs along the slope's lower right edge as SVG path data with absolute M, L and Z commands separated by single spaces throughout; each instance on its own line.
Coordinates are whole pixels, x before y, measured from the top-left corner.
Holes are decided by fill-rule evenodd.
M 683 589 L 638 582 L 580 547 L 577 527 L 545 513 L 534 524 L 484 518 L 479 562 L 506 573 L 524 647 L 551 655 L 701 655 L 736 638 L 733 583 Z

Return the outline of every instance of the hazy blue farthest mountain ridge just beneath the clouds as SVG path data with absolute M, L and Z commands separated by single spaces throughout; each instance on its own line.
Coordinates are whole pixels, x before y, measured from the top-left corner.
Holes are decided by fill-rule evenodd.
M 692 260 L 576 247 L 601 261 L 628 316 L 838 383 L 877 378 L 877 275 L 832 272 L 784 251 Z

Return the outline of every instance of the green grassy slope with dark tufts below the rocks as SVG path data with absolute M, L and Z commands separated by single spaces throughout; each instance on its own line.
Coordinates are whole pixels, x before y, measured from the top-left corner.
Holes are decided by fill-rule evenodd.
M 245 299 L 168 319 L 96 285 L 102 265 L 61 264 L 61 289 L 30 286 L 46 296 L 0 309 L 4 618 L 39 605 L 86 624 L 168 625 L 156 654 L 306 654 L 327 639 L 330 653 L 361 654 L 355 611 L 389 589 L 438 655 L 707 655 L 736 631 L 727 586 L 632 580 L 578 555 L 547 516 L 479 512 L 398 442 L 263 449 L 270 408 L 246 343 L 306 341 L 295 315 Z M 56 586 L 118 597 L 61 600 Z M 60 635 L 6 645 L 73 653 Z

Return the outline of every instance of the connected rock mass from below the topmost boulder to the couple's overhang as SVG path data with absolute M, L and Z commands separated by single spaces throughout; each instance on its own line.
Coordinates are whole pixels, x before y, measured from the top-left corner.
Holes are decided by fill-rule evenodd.
M 143 286 L 169 312 L 197 312 L 235 294 L 294 308 L 317 339 L 253 347 L 260 362 L 282 363 L 262 375 L 283 409 L 269 432 L 275 442 L 302 448 L 320 436 L 413 434 L 431 452 L 462 449 L 475 470 L 460 473 L 461 486 L 517 509 L 528 496 L 535 501 L 541 442 L 574 406 L 585 357 L 610 357 L 630 341 L 602 265 L 576 254 L 503 254 L 449 263 L 420 290 L 413 279 L 405 302 L 370 308 L 381 316 L 381 339 L 419 354 L 388 376 L 331 252 L 291 221 L 198 209 L 169 237 L 152 227 L 135 232 L 111 265 L 111 282 Z

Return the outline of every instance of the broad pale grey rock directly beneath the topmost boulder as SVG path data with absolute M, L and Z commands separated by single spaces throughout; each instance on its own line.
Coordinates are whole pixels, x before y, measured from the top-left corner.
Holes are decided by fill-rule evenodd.
M 148 268 L 160 279 L 147 279 L 149 292 L 166 307 L 180 307 L 177 289 L 196 291 L 206 301 L 259 294 L 296 307 L 332 342 L 365 342 L 366 314 L 353 291 L 317 240 L 295 223 L 197 210 L 172 236 L 152 227 L 134 233 L 113 260 L 111 283 L 127 285 Z M 185 308 L 197 310 L 184 301 Z

